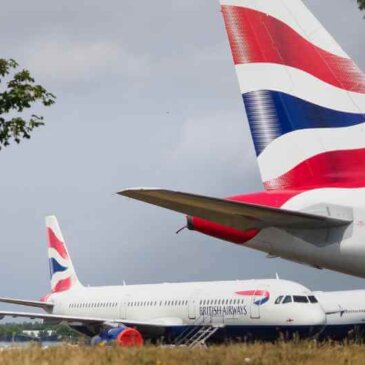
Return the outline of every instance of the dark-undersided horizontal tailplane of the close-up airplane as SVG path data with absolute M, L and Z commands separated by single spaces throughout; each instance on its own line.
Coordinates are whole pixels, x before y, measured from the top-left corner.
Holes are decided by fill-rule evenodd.
M 118 194 L 239 230 L 269 227 L 286 229 L 331 228 L 346 226 L 352 222 L 348 219 L 238 203 L 164 189 L 127 189 Z

